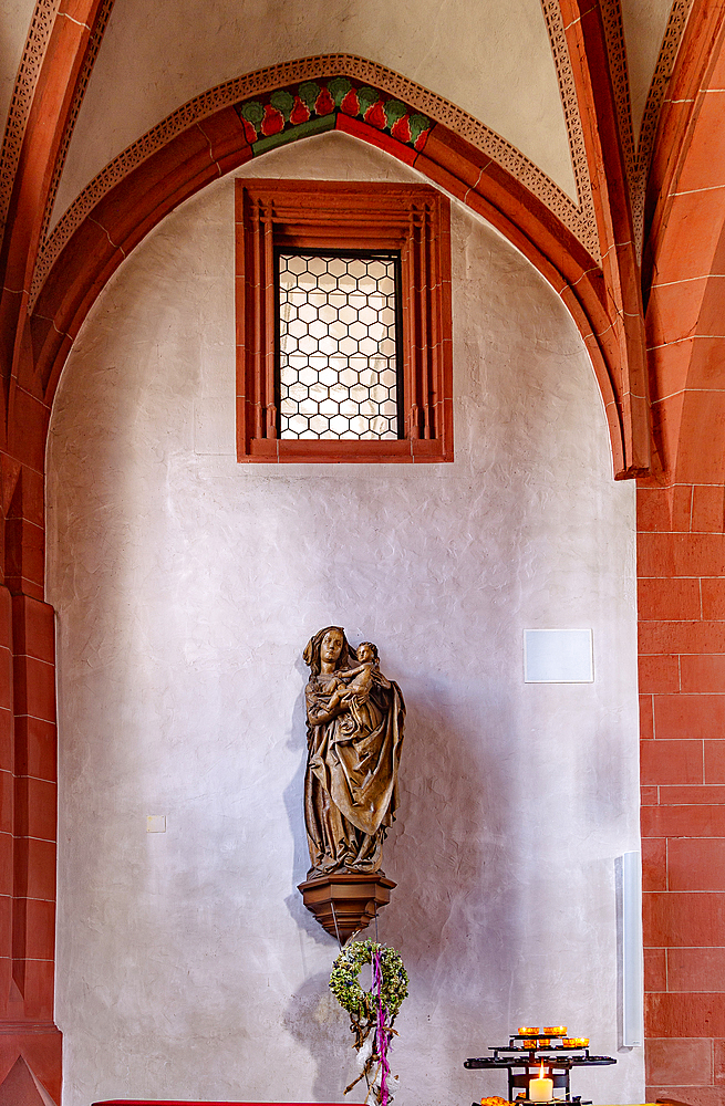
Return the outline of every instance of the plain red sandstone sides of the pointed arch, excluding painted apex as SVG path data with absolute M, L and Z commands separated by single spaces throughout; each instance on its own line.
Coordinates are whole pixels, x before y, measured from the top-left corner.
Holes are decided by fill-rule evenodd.
M 342 114 L 336 127 L 414 165 L 483 215 L 536 265 L 563 300 L 590 352 L 615 474 L 641 468 L 633 449 L 641 428 L 632 425 L 631 388 L 618 332 L 621 311 L 602 270 L 574 234 L 506 169 L 439 123 L 421 153 Z M 73 340 L 117 265 L 174 207 L 251 157 L 237 112 L 222 107 L 132 169 L 85 217 L 55 260 L 30 319 L 29 364 L 45 424 Z M 33 390 L 29 385 L 24 384 L 28 392 Z

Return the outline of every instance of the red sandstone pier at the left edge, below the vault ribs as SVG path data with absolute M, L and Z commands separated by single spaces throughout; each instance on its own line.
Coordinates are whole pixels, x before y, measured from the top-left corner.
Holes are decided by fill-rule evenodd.
M 20 466 L 15 476 L 3 528 L 9 586 L 0 586 L 0 1106 L 40 1104 L 38 1085 L 60 1103 L 62 1058 L 54 615 L 42 602 L 42 476 Z

